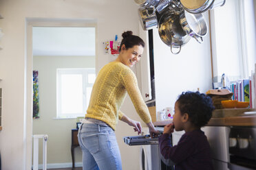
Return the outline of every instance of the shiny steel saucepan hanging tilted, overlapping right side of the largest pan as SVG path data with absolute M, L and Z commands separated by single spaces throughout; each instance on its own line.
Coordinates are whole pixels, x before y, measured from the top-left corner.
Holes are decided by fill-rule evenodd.
M 186 34 L 195 38 L 199 43 L 203 42 L 202 36 L 207 34 L 207 24 L 202 14 L 191 14 L 183 11 L 180 14 L 180 25 Z

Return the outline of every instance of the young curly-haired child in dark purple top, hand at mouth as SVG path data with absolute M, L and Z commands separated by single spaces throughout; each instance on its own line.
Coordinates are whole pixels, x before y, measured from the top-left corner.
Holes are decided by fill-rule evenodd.
M 211 119 L 211 97 L 199 92 L 182 93 L 175 102 L 173 123 L 164 126 L 159 138 L 160 152 L 171 160 L 175 170 L 213 170 L 211 149 L 200 127 Z M 173 130 L 185 131 L 177 145 L 171 146 Z

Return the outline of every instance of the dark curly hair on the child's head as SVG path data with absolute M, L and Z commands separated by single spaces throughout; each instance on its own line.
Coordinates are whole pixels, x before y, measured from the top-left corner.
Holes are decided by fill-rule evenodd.
M 214 110 L 211 97 L 206 96 L 204 93 L 197 92 L 183 92 L 178 97 L 178 107 L 181 114 L 189 114 L 189 121 L 196 127 L 206 125 L 212 116 Z

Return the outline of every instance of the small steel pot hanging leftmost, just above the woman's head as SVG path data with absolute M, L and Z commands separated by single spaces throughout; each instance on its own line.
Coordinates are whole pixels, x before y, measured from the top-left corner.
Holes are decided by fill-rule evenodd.
M 138 15 L 140 18 L 140 25 L 144 30 L 158 25 L 158 19 L 153 6 L 150 8 L 139 8 Z

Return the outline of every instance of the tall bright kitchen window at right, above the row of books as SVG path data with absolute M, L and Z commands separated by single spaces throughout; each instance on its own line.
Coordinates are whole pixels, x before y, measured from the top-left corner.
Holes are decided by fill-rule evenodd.
M 229 0 L 211 10 L 213 82 L 222 73 L 229 80 L 248 78 L 255 63 L 255 19 L 253 0 Z

